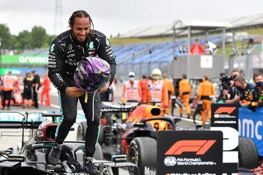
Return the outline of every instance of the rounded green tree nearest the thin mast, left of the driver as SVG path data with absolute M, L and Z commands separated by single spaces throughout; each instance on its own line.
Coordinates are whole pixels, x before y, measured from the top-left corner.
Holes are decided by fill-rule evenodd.
M 31 48 L 40 48 L 45 43 L 45 29 L 42 26 L 33 26 L 31 31 L 30 46 Z

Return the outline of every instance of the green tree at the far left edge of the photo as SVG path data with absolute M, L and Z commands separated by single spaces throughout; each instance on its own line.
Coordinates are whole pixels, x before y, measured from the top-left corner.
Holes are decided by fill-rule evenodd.
M 1 49 L 12 50 L 13 38 L 6 24 L 0 24 Z

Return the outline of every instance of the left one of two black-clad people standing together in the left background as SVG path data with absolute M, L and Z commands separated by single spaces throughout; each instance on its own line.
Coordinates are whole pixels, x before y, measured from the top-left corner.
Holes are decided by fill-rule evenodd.
M 32 85 L 33 85 L 33 78 L 31 77 L 31 73 L 27 73 L 26 77 L 24 77 L 23 80 L 24 84 L 24 92 L 23 92 L 23 98 L 24 98 L 24 105 L 23 108 L 31 108 L 32 105 Z

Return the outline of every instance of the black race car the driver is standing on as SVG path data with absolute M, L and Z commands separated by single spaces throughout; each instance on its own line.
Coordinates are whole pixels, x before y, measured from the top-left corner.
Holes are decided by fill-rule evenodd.
M 0 175 L 85 174 L 87 168 L 84 166 L 85 145 L 83 141 L 64 142 L 59 164 L 53 166 L 48 162 L 47 156 L 54 144 L 57 119 L 60 116 L 61 114 L 56 113 L 43 114 L 43 122 L 40 123 L 29 141 L 24 144 L 21 151 L 15 154 L 0 152 Z M 46 120 L 48 117 L 52 117 L 51 123 Z M 35 121 L 39 121 L 38 119 Z M 26 117 L 24 121 L 29 121 L 29 118 Z M 24 135 L 24 131 L 22 134 Z M 136 165 L 126 162 L 126 155 L 115 155 L 112 157 L 112 161 L 104 161 L 99 144 L 96 146 L 94 158 L 96 159 L 94 164 L 100 174 L 118 175 L 119 167 L 133 167 L 135 174 L 139 173 Z

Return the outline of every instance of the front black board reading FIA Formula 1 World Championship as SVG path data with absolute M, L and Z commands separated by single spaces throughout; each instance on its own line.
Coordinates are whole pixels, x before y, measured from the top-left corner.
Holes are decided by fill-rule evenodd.
M 163 130 L 157 137 L 157 174 L 222 174 L 223 133 Z

